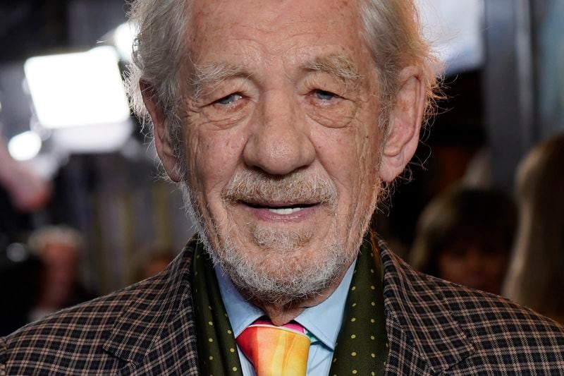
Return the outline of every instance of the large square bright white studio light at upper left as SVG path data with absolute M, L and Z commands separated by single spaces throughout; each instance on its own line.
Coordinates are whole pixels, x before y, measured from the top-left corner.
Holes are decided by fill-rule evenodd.
M 46 128 L 122 123 L 129 106 L 114 47 L 25 62 L 37 119 Z

